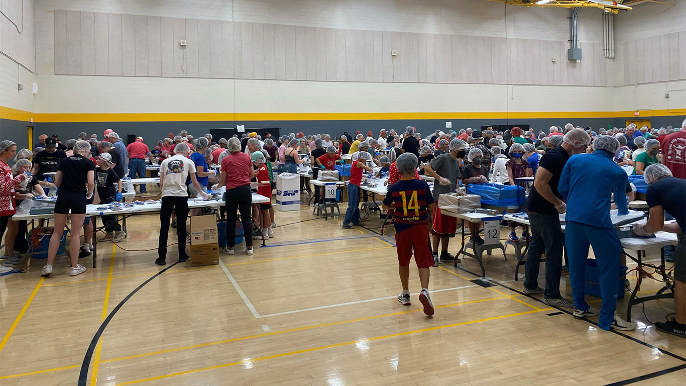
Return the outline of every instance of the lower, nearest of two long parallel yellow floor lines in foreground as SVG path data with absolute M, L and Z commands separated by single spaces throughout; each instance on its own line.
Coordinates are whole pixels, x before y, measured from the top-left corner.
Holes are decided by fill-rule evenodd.
M 380 341 L 382 339 L 390 339 L 390 338 L 396 338 L 396 337 L 403 337 L 405 335 L 410 335 L 410 334 L 416 334 L 418 332 L 427 332 L 427 331 L 435 331 L 435 330 L 442 330 L 443 328 L 451 328 L 451 327 L 457 327 L 457 326 L 464 326 L 466 324 L 472 324 L 472 323 L 481 323 L 484 321 L 492 321 L 492 320 L 497 320 L 497 319 L 504 319 L 507 317 L 516 317 L 520 315 L 528 315 L 532 313 L 539 313 L 542 310 L 530 310 L 530 311 L 525 311 L 523 313 L 514 313 L 514 314 L 508 314 L 508 315 L 500 315 L 497 317 L 487 317 L 483 319 L 476 319 L 476 320 L 471 320 L 471 321 L 462 321 L 460 323 L 452 323 L 452 324 L 446 324 L 444 326 L 436 326 L 436 327 L 429 327 L 429 328 L 422 328 L 421 330 L 412 330 L 412 331 L 405 331 L 405 332 L 398 332 L 397 334 L 388 334 L 388 335 L 381 335 L 379 337 L 372 337 L 372 338 L 366 338 L 366 339 L 359 339 L 357 341 L 347 341 L 343 343 L 334 343 L 331 345 L 322 345 L 319 347 L 314 347 L 314 348 L 305 348 L 303 350 L 296 350 L 296 351 L 290 351 L 290 352 L 283 352 L 281 354 L 273 354 L 273 355 L 267 355 L 267 356 L 259 356 L 258 358 L 251 359 L 252 362 L 257 362 L 257 361 L 264 361 L 265 359 L 274 359 L 274 358 L 282 358 L 283 356 L 291 356 L 295 354 L 302 354 L 303 352 L 313 352 L 313 351 L 318 351 L 318 350 L 326 350 L 327 348 L 338 348 L 346 345 L 353 345 L 355 343 L 358 343 L 360 341 Z M 128 381 L 128 382 L 122 382 L 122 383 L 117 383 L 115 386 L 126 386 L 126 385 L 134 385 L 135 383 L 143 383 L 147 381 L 158 381 L 160 379 L 165 379 L 165 378 L 171 378 L 174 376 L 180 376 L 180 375 L 185 375 L 185 374 L 191 374 L 195 372 L 202 372 L 205 370 L 215 370 L 219 369 L 222 367 L 230 367 L 234 365 L 238 365 L 240 363 L 244 363 L 244 361 L 236 361 L 236 362 L 229 362 L 229 363 L 222 363 L 221 365 L 214 365 L 214 366 L 208 366 L 208 367 L 200 367 L 198 369 L 193 369 L 193 370 L 185 370 L 182 372 L 176 372 L 172 374 L 165 374 L 161 376 L 151 376 L 149 378 L 142 378 L 138 379 L 135 381 Z

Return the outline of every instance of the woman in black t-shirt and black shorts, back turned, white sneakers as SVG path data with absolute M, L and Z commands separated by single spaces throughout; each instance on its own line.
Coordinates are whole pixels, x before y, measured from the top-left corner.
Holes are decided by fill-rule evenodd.
M 47 264 L 41 275 L 47 277 L 52 273 L 52 263 L 55 261 L 60 247 L 60 238 L 67 223 L 67 215 L 71 211 L 71 242 L 69 256 L 71 257 L 70 276 L 84 273 L 86 268 L 79 262 L 79 247 L 81 245 L 81 227 L 86 218 L 86 200 L 93 197 L 95 188 L 95 165 L 88 159 L 91 144 L 77 141 L 74 144 L 74 154 L 62 159 L 55 176 L 55 185 L 60 187 L 60 194 L 55 203 L 55 229 L 50 237 L 47 250 Z

